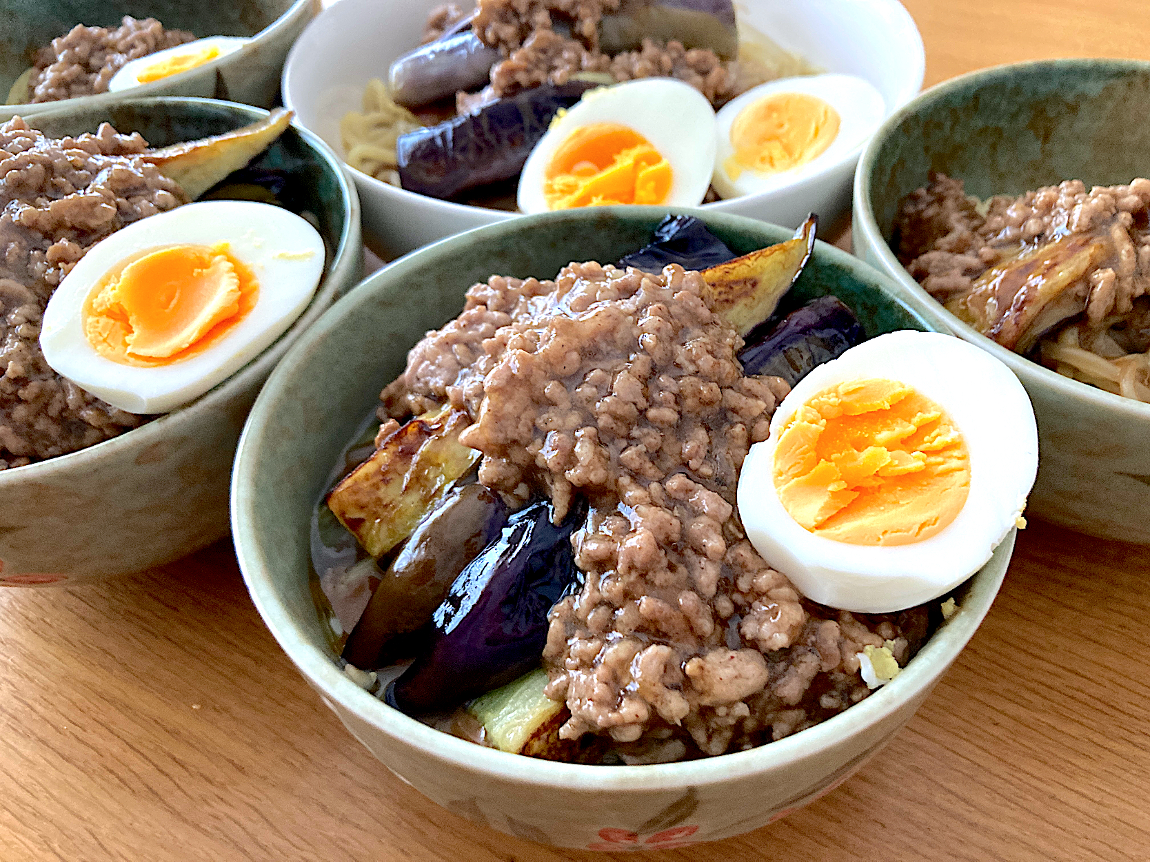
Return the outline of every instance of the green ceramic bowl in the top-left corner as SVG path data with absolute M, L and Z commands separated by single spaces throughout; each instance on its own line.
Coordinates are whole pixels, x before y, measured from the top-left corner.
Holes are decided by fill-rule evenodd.
M 195 69 L 118 93 L 82 97 L 107 107 L 124 98 L 148 95 L 210 95 L 271 107 L 279 88 L 279 70 L 288 49 L 320 10 L 320 0 L 0 0 L 0 102 L 36 52 L 76 24 L 118 26 L 124 15 L 159 18 L 169 30 L 198 37 L 245 36 L 239 51 Z M 69 102 L 79 100 L 68 100 Z M 31 116 L 59 105 L 0 105 L 0 120 Z

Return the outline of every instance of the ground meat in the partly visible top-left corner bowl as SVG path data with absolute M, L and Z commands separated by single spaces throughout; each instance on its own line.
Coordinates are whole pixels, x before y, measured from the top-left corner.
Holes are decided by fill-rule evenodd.
M 164 30 L 155 18 L 124 16 L 117 28 L 77 24 L 36 55 L 28 82 L 29 102 L 75 99 L 108 90 L 124 63 L 193 41 L 184 30 Z

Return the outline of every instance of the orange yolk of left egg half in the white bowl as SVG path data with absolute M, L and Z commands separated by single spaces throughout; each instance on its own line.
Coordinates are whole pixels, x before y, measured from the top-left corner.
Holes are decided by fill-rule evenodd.
M 670 193 L 670 164 L 634 129 L 595 123 L 572 132 L 544 171 L 549 209 L 611 203 L 662 203 Z

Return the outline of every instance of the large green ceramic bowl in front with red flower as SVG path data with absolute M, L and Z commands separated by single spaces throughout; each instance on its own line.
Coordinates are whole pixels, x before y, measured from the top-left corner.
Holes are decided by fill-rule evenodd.
M 1013 536 L 969 582 L 963 609 L 906 670 L 861 703 L 760 748 L 645 767 L 553 763 L 481 748 L 391 709 L 345 677 L 308 588 L 313 506 L 338 452 L 402 368 L 407 349 L 462 307 L 493 272 L 553 277 L 572 260 L 616 260 L 665 210 L 621 207 L 523 216 L 442 240 L 368 278 L 289 351 L 256 400 L 232 479 L 232 534 L 252 598 L 307 682 L 347 729 L 439 805 L 536 841 L 638 849 L 757 829 L 845 780 L 911 717 L 974 633 L 1002 583 Z M 789 230 L 696 213 L 731 248 Z M 868 334 L 931 329 L 857 259 L 818 244 L 795 293 L 834 292 Z

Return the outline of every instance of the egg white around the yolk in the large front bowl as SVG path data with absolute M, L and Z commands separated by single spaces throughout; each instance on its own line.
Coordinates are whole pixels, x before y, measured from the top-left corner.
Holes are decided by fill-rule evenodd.
M 966 441 L 966 503 L 922 541 L 882 547 L 822 538 L 799 525 L 779 500 L 772 471 L 783 426 L 823 390 L 868 378 L 914 387 L 950 415 Z M 884 614 L 936 599 L 981 569 L 1014 529 L 1037 468 L 1034 410 L 1013 372 L 966 341 L 906 330 L 864 341 L 799 380 L 772 417 L 770 437 L 743 461 L 738 513 L 762 559 L 808 599 Z

